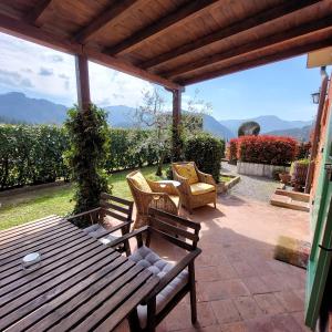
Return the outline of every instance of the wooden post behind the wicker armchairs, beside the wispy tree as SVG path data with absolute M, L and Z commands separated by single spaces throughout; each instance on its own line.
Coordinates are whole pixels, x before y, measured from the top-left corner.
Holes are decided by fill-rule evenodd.
M 172 158 L 173 162 L 180 159 L 180 118 L 181 118 L 181 93 L 184 89 L 172 90 L 173 93 L 173 137 L 172 137 Z

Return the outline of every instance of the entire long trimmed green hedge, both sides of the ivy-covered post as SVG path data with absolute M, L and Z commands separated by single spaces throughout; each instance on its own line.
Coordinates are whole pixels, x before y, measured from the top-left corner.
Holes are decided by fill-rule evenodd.
M 151 131 L 108 128 L 107 173 L 157 163 L 157 152 L 147 144 Z M 68 179 L 64 128 L 46 125 L 0 125 L 0 189 Z M 169 156 L 165 162 L 169 162 Z

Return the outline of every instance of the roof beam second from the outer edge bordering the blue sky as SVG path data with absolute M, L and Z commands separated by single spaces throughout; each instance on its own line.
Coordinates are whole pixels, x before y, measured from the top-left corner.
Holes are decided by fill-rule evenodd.
M 221 62 L 224 60 L 229 60 L 231 58 L 241 56 L 246 53 L 259 51 L 276 44 L 289 42 L 290 40 L 298 39 L 308 34 L 314 34 L 321 30 L 332 28 L 332 15 L 320 19 L 319 21 L 313 21 L 310 23 L 304 23 L 297 28 L 291 28 L 287 31 L 278 32 L 272 35 L 268 35 L 264 39 L 256 40 L 243 45 L 239 45 L 229 51 L 216 53 L 209 56 L 198 59 L 197 61 L 183 64 L 179 68 L 176 68 L 169 72 L 158 72 L 158 75 L 162 75 L 167 79 L 174 79 L 178 75 L 186 74 L 188 72 L 209 66 L 211 64 Z

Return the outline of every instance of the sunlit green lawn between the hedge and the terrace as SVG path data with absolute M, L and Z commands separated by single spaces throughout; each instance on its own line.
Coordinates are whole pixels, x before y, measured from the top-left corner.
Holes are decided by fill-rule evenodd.
M 164 170 L 167 165 L 164 166 Z M 143 174 L 149 179 L 159 179 L 155 176 L 156 167 L 144 167 Z M 110 176 L 112 193 L 123 198 L 132 198 L 126 183 L 126 175 L 131 170 L 115 173 Z M 164 172 L 165 174 L 165 172 Z M 22 196 L 22 195 L 20 195 Z M 64 185 L 50 189 L 38 189 L 27 193 L 18 200 L 14 196 L 0 209 L 0 229 L 10 228 L 49 215 L 65 216 L 73 209 L 73 187 Z

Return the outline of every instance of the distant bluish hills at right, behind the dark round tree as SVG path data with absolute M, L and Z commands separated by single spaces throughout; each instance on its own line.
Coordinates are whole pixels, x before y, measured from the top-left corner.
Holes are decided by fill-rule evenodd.
M 276 115 L 262 115 L 253 118 L 243 118 L 243 120 L 222 120 L 219 122 L 228 129 L 230 129 L 234 136 L 237 136 L 239 126 L 247 121 L 258 122 L 260 125 L 260 133 L 302 128 L 304 126 L 310 126 L 312 124 L 312 121 L 286 121 L 279 118 Z

